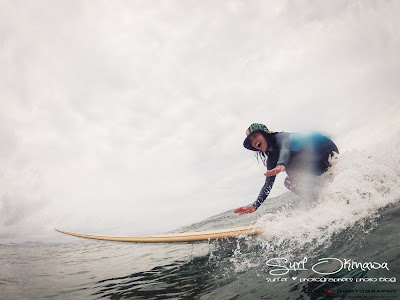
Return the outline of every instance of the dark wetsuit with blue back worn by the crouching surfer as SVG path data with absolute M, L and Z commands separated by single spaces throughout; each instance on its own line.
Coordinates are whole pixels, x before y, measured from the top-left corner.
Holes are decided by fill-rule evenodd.
M 339 153 L 336 145 L 319 133 L 262 133 L 268 143 L 266 155 L 267 169 L 283 165 L 288 174 L 285 186 L 297 193 L 296 177 L 302 174 L 319 176 L 329 168 L 329 157 Z M 257 209 L 268 197 L 275 181 L 275 176 L 267 177 L 253 206 Z

